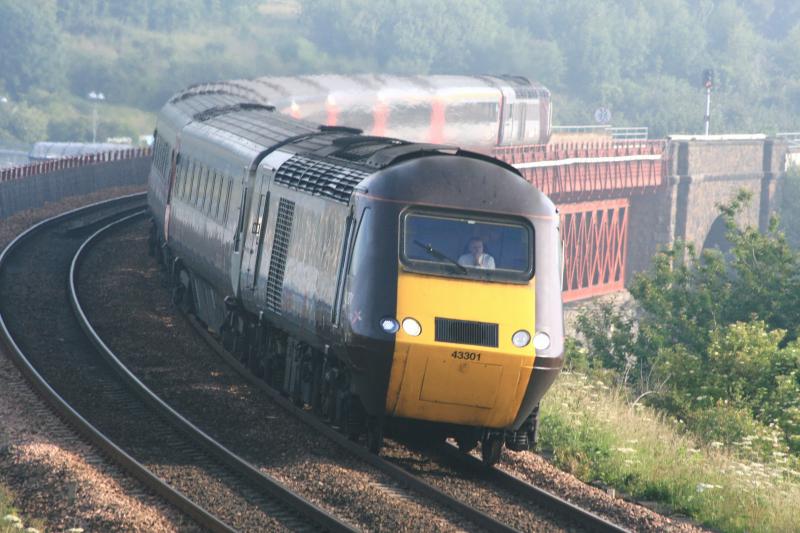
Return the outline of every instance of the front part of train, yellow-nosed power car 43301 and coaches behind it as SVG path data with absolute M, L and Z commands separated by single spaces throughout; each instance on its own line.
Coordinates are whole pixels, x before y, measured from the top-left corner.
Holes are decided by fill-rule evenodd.
M 215 84 L 160 110 L 151 251 L 253 373 L 379 452 L 387 428 L 535 441 L 563 365 L 556 207 L 510 165 L 295 119 Z

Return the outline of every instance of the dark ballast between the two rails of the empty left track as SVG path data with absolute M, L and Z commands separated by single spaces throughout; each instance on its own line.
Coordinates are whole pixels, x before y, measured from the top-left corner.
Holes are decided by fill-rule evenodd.
M 138 202 L 143 205 L 142 199 Z M 91 220 L 99 218 L 94 214 Z M 83 220 L 68 223 L 68 229 L 59 225 L 43 230 L 35 240 L 15 250 L 4 268 L 0 308 L 17 344 L 62 397 L 95 427 L 151 472 L 234 528 L 307 529 L 304 520 L 275 514 L 271 499 L 156 419 L 88 344 L 72 316 L 64 277 L 75 250 L 87 232 L 95 229 L 85 227 Z M 26 312 L 18 312 L 20 309 Z

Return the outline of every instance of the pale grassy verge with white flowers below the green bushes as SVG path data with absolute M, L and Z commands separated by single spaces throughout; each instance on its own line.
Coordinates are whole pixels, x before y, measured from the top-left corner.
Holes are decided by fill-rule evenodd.
M 722 531 L 800 530 L 800 471 L 778 454 L 769 464 L 709 446 L 613 389 L 565 373 L 542 401 L 541 443 L 584 481 L 657 501 Z

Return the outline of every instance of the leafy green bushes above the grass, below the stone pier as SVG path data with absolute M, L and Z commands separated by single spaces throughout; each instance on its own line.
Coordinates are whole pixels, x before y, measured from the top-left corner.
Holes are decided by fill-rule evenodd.
M 748 452 L 800 455 L 800 252 L 777 219 L 764 234 L 739 228 L 748 201 L 743 192 L 720 206 L 727 254 L 677 243 L 634 280 L 639 316 L 600 306 L 577 329 L 588 368 L 614 370 L 706 440 L 757 436 L 768 445 L 750 442 Z

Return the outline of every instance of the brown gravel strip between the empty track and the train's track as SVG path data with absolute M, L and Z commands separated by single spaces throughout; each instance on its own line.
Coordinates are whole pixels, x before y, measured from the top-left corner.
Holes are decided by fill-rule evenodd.
M 99 243 L 81 269 L 87 282 L 79 295 L 98 334 L 148 387 L 222 444 L 357 527 L 476 530 L 315 434 L 223 364 L 170 302 L 164 276 L 147 257 L 146 229 L 139 224 Z

